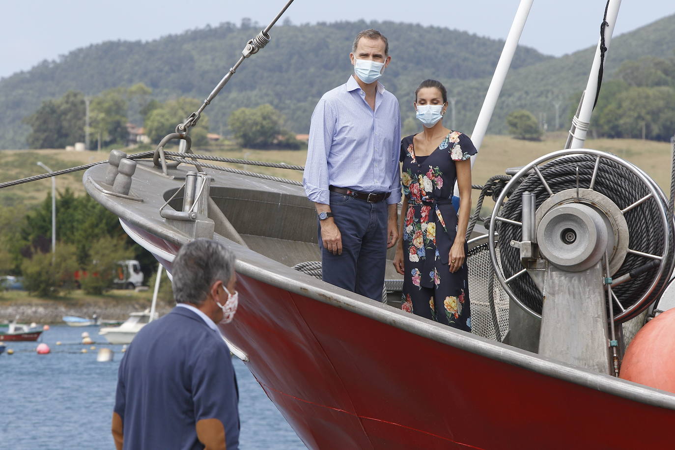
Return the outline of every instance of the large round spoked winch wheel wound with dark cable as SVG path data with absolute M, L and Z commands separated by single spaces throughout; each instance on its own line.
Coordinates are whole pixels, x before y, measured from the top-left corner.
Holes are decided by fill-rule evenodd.
M 572 203 L 591 206 L 606 219 L 615 240 L 608 261 L 610 273 L 603 281 L 611 283 L 612 277 L 624 275 L 626 279 L 645 264 L 657 264 L 651 271 L 612 286 L 612 299 L 607 301 L 613 302 L 615 322 L 637 316 L 657 300 L 673 271 L 674 221 L 668 198 L 641 169 L 599 150 L 559 150 L 522 167 L 499 194 L 487 241 L 495 275 L 518 306 L 541 318 L 541 293 L 524 276 L 527 270 L 520 263 L 518 249 L 508 248 L 512 240 L 522 240 L 522 192 L 536 196 L 537 224 L 547 211 Z M 499 235 L 498 244 L 495 235 Z

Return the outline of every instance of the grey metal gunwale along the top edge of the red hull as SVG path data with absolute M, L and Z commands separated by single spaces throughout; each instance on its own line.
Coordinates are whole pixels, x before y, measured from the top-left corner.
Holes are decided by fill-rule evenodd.
M 142 217 L 134 213 L 133 210 L 122 206 L 122 204 L 132 202 L 132 200 L 118 197 L 113 199 L 105 196 L 103 192 L 95 188 L 95 182 L 90 179 L 91 172 L 103 171 L 103 169 L 104 167 L 94 166 L 83 175 L 82 181 L 90 196 L 130 225 L 140 227 L 144 231 L 173 244 L 182 246 L 190 242 L 188 236 L 176 233 L 176 230 L 167 224 Z M 212 173 L 212 175 L 215 175 L 215 173 Z M 228 176 L 244 177 L 244 175 L 231 173 Z M 269 185 L 271 185 L 270 188 L 274 188 L 273 183 L 269 183 Z M 159 198 L 162 198 L 162 194 L 163 192 L 157 195 Z M 279 194 L 281 195 L 281 192 Z M 139 206 L 139 202 L 134 201 L 133 203 L 133 206 Z M 157 217 L 159 217 L 159 213 L 157 213 Z M 214 238 L 224 241 L 227 246 L 236 252 L 236 271 L 242 275 L 246 275 L 246 277 L 335 306 L 336 308 L 354 312 L 360 316 L 365 316 L 387 325 L 392 325 L 408 333 L 425 337 L 438 343 L 484 356 L 491 360 L 518 366 L 539 374 L 551 376 L 552 378 L 568 381 L 575 385 L 588 387 L 595 391 L 637 401 L 638 403 L 675 410 L 675 395 L 667 391 L 633 383 L 632 381 L 616 378 L 609 374 L 591 372 L 590 370 L 564 362 L 544 358 L 538 354 L 511 345 L 432 322 L 414 314 L 397 310 L 369 298 L 359 296 L 356 293 L 351 293 L 345 289 L 331 286 L 315 277 L 296 271 L 281 262 L 268 258 L 263 254 L 240 246 L 240 244 L 221 235 L 215 234 Z

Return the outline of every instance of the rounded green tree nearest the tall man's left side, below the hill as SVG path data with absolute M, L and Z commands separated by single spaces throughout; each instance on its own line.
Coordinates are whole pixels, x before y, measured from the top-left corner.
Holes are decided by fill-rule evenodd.
M 284 116 L 272 105 L 240 108 L 229 115 L 229 129 L 238 142 L 248 148 L 268 148 L 284 134 Z M 288 132 L 286 132 L 288 133 Z

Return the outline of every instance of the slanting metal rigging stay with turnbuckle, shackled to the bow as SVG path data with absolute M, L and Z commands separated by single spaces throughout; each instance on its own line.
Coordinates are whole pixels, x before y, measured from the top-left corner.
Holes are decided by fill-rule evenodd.
M 271 40 L 271 36 L 269 35 L 269 30 L 274 26 L 274 24 L 277 23 L 277 20 L 281 18 L 281 16 L 286 12 L 286 9 L 293 3 L 293 0 L 289 0 L 286 5 L 284 5 L 283 8 L 281 8 L 281 11 L 277 13 L 275 18 L 272 19 L 271 22 L 265 27 L 264 30 L 258 33 L 257 36 L 254 38 L 248 40 L 246 43 L 246 47 L 244 47 L 244 50 L 242 50 L 242 55 L 239 57 L 239 60 L 232 66 L 230 67 L 229 71 L 227 71 L 227 74 L 223 76 L 223 78 L 220 80 L 220 82 L 213 88 L 211 91 L 211 94 L 205 99 L 204 103 L 197 109 L 197 111 L 194 111 L 194 113 L 190 114 L 185 121 L 182 123 L 179 123 L 176 128 L 175 128 L 175 133 L 170 133 L 165 136 L 161 142 L 159 142 L 159 145 L 157 146 L 157 150 L 155 150 L 155 166 L 159 166 L 159 160 L 161 159 L 161 167 L 162 171 L 166 174 L 167 173 L 167 163 L 164 159 L 164 146 L 167 144 L 172 139 L 182 139 L 186 141 L 186 152 L 192 152 L 190 150 L 190 146 L 192 144 L 192 141 L 188 137 L 188 132 L 190 131 L 190 128 L 194 127 L 194 125 L 197 124 L 199 121 L 199 118 L 201 117 L 202 111 L 211 104 L 211 101 L 215 99 L 215 96 L 218 95 L 218 93 L 221 91 L 223 86 L 227 84 L 230 78 L 237 72 L 237 69 L 239 66 L 244 62 L 244 59 L 250 57 L 250 55 L 255 55 L 258 53 L 260 49 L 263 49 L 265 45 L 269 43 Z M 201 170 L 199 166 L 197 166 L 198 170 Z

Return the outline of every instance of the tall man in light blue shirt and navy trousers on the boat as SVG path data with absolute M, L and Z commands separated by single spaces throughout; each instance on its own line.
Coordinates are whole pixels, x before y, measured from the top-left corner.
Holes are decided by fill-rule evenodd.
M 398 240 L 400 112 L 377 81 L 391 61 L 387 38 L 362 31 L 349 57 L 354 74 L 312 115 L 304 189 L 319 215 L 323 280 L 381 301 Z

